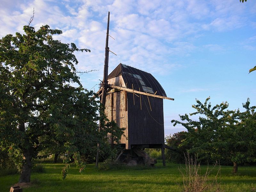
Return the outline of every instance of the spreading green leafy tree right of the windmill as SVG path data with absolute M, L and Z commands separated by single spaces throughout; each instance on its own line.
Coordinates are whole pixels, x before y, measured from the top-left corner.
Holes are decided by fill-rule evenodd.
M 180 116 L 182 122 L 172 120 L 174 126 L 181 124 L 188 129 L 183 145 L 191 145 L 190 153 L 198 154 L 199 159 L 224 159 L 233 162 L 233 172 L 238 164 L 255 162 L 256 122 L 255 106 L 249 107 L 249 99 L 243 105 L 245 112 L 227 110 L 228 103 L 212 107 L 208 101 L 196 100 L 196 109 L 190 116 L 199 114 L 199 121 L 194 121 L 187 114 Z M 185 121 L 185 122 L 184 122 Z

